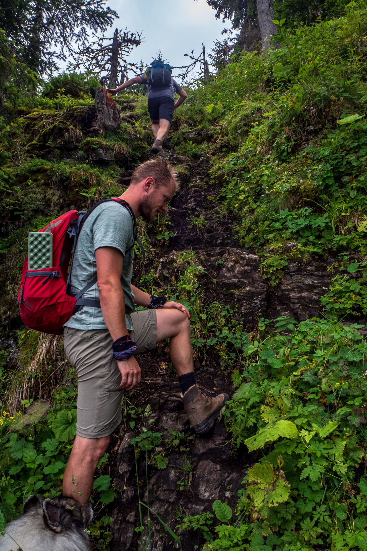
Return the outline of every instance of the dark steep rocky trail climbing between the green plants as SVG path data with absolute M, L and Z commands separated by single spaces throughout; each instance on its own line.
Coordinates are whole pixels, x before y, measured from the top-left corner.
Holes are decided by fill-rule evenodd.
M 220 215 L 220 187 L 210 180 L 211 156 L 199 156 L 192 163 L 187 158 L 165 153 L 175 165 L 189 166 L 189 176 L 180 192 L 174 197 L 169 219 L 173 237 L 161 249 L 155 285 L 168 288 L 179 269 L 178 255 L 183 251 L 195 251 L 195 262 L 204 268 L 200 290 L 205 302 L 218 301 L 230 304 L 235 316 L 243 318 L 248 331 L 256 329 L 259 316 L 288 315 L 298 320 L 317 315 L 319 297 L 330 282 L 328 262 L 302 264 L 289 263 L 284 278 L 276 289 L 266 285 L 259 273 L 260 258 L 254 252 L 240 246 L 233 232 L 232 220 Z M 128 183 L 129 176 L 124 179 Z M 218 214 L 219 213 L 219 214 Z M 202 227 L 193 220 L 204 219 Z M 292 247 L 292 244 L 289 244 Z M 112 511 L 112 549 L 141 550 L 139 496 L 149 503 L 151 517 L 151 544 L 156 551 L 178 548 L 172 536 L 163 529 L 161 521 L 177 533 L 177 526 L 188 515 L 212 512 L 213 501 L 220 499 L 234 507 L 237 491 L 256 457 L 249 456 L 243 447 L 232 446 L 223 422 L 216 422 L 209 434 L 194 435 L 185 416 L 179 395 L 179 385 L 169 366 L 165 345 L 154 353 L 140 356 L 143 382 L 138 391 L 128 397 L 133 408 L 151 408 L 145 428 L 162 434 L 160 446 L 166 449 L 167 467 L 157 469 L 154 462 L 145 461 L 145 454 L 138 452 L 137 469 L 134 446 L 130 441 L 144 430 L 136 425 L 135 434 L 129 427 L 129 414 L 125 416 L 119 436 L 114 440 L 109 461 L 118 498 Z M 220 370 L 218 359 L 208 354 L 202 365 L 196 366 L 196 375 L 204 392 L 227 392 L 232 396 L 234 387 L 232 371 Z M 178 444 L 169 446 L 173 433 L 180 433 Z M 135 445 L 136 446 L 136 445 Z M 138 480 L 138 483 L 137 483 Z M 147 541 L 147 509 L 141 506 Z M 200 548 L 205 543 L 199 531 L 184 531 L 180 539 L 185 551 Z

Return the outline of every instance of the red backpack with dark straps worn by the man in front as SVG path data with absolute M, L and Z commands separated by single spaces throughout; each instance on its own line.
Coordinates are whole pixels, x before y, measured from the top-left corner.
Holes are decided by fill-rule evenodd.
M 100 308 L 99 300 L 85 299 L 84 293 L 97 283 L 97 277 L 93 278 L 79 293 L 70 291 L 70 275 L 72 273 L 76 241 L 83 228 L 83 224 L 94 210 L 101 203 L 116 201 L 127 208 L 134 228 L 134 242 L 137 241 L 143 251 L 143 245 L 136 236 L 135 216 L 130 205 L 118 198 L 102 199 L 96 203 L 88 212 L 69 210 L 56 220 L 52 220 L 45 228 L 39 230 L 52 233 L 52 256 L 53 267 L 37 270 L 28 269 L 28 256 L 23 265 L 18 301 L 20 305 L 20 317 L 23 323 L 30 329 L 59 335 L 62 333 L 63 325 L 83 306 L 94 306 Z M 73 249 L 73 255 L 72 255 Z M 70 271 L 68 276 L 68 267 Z

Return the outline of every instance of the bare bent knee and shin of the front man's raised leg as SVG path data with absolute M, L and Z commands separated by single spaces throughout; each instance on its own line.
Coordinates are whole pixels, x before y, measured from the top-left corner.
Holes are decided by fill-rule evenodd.
M 177 376 L 194 371 L 191 326 L 187 315 L 176 309 L 157 310 L 157 343 L 169 338 L 169 355 Z

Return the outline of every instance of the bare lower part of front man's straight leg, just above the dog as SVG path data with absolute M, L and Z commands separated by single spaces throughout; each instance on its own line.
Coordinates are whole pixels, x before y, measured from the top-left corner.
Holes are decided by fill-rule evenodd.
M 92 493 L 93 477 L 98 461 L 107 450 L 109 436 L 83 438 L 75 436 L 72 453 L 63 479 L 63 495 L 79 503 L 87 503 Z

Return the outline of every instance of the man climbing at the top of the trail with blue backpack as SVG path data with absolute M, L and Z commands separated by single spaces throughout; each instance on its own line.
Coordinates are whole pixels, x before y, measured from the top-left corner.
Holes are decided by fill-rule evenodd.
M 145 73 L 127 80 L 117 88 L 108 88 L 107 90 L 110 94 L 116 94 L 134 84 L 148 85 L 148 111 L 155 137 L 152 152 L 159 153 L 163 151 L 162 144 L 171 127 L 173 111 L 185 101 L 187 93 L 177 84 L 176 80 L 173 80 L 172 69 L 168 63 L 155 60 L 150 65 Z M 175 92 L 179 96 L 176 102 L 174 101 Z

